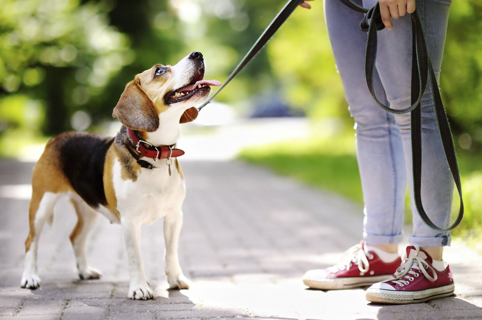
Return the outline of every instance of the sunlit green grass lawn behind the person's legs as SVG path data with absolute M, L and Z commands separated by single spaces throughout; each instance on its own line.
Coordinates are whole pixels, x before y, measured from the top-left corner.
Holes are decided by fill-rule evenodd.
M 362 203 L 353 131 L 325 138 L 291 140 L 241 151 L 240 158 L 294 177 L 311 186 L 335 192 Z M 459 151 L 465 213 L 452 234 L 471 242 L 482 252 L 482 155 Z M 454 194 L 452 221 L 458 213 L 458 194 Z M 406 223 L 412 221 L 410 201 L 406 201 Z

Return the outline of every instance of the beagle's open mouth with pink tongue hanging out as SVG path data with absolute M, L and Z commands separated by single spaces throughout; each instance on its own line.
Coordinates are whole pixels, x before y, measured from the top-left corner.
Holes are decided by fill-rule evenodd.
M 217 80 L 203 80 L 204 68 L 196 72 L 189 84 L 185 87 L 173 90 L 165 96 L 166 104 L 177 103 L 187 100 L 193 96 L 204 96 L 211 90 L 210 86 L 220 86 L 221 83 Z

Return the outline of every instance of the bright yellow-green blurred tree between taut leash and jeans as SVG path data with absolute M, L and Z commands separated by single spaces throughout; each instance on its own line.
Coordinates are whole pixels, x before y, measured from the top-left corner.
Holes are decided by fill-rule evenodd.
M 337 117 L 351 124 L 321 3 L 297 10 L 268 46 L 273 72 L 290 105 L 310 118 Z

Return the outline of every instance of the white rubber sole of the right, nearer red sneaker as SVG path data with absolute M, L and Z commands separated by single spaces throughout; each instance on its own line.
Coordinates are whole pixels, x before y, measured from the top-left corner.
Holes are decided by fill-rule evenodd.
M 422 291 L 395 291 L 368 288 L 365 297 L 368 301 L 375 303 L 421 303 L 437 298 L 451 296 L 453 295 L 454 288 L 455 286 L 453 284 Z

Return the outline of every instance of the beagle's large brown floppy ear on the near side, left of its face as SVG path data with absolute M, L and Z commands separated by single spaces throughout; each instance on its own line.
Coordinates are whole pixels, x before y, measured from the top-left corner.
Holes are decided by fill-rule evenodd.
M 138 78 L 129 82 L 112 111 L 126 127 L 152 132 L 159 128 L 159 115 L 151 98 L 140 87 Z

